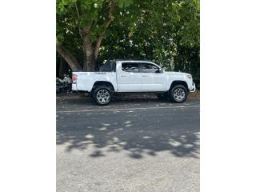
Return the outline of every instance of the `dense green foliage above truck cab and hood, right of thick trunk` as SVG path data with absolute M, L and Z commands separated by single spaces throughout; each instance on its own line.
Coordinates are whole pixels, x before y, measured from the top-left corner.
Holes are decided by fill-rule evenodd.
M 98 62 L 149 59 L 166 70 L 182 70 L 199 78 L 198 0 L 134 1 L 117 12 L 121 15 L 103 39 Z

